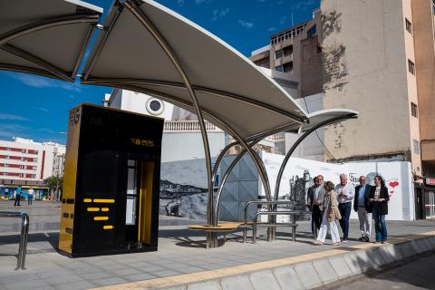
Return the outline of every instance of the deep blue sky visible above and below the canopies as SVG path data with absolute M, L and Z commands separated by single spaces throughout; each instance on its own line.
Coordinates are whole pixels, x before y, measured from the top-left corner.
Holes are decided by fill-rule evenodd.
M 311 19 L 320 0 L 158 0 L 239 52 L 250 55 L 269 35 Z M 107 12 L 111 0 L 87 0 Z M 292 22 L 293 10 L 293 22 Z M 82 102 L 102 103 L 108 88 L 0 72 L 0 140 L 22 137 L 65 143 L 68 111 Z

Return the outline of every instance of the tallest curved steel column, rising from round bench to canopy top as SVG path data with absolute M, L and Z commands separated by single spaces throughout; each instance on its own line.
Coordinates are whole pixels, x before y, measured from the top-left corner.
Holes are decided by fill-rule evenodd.
M 181 67 L 179 60 L 176 57 L 176 54 L 173 52 L 172 48 L 170 47 L 169 43 L 165 40 L 162 34 L 160 34 L 157 27 L 152 24 L 150 19 L 147 17 L 147 15 L 143 14 L 143 12 L 140 10 L 140 8 L 136 5 L 134 1 L 131 0 L 122 0 L 121 5 L 124 5 L 127 7 L 127 9 L 133 14 L 139 21 L 140 24 L 142 24 L 154 37 L 157 43 L 160 44 L 161 49 L 168 55 L 170 61 L 174 64 L 175 68 L 177 69 L 179 76 L 182 78 L 183 82 L 186 84 L 186 88 L 189 91 L 190 97 L 192 99 L 192 103 L 194 105 L 195 111 L 198 116 L 198 122 L 199 127 L 201 129 L 201 135 L 202 135 L 202 141 L 204 145 L 204 151 L 206 155 L 206 165 L 207 165 L 207 176 L 208 176 L 208 224 L 214 225 L 214 216 L 213 216 L 213 203 L 214 203 L 214 197 L 213 197 L 213 175 L 212 175 L 212 169 L 211 169 L 211 156 L 210 156 L 210 149 L 208 144 L 208 136 L 206 131 L 206 125 L 204 123 L 204 118 L 202 117 L 202 112 L 199 107 L 197 95 L 193 91 L 192 85 L 189 81 L 189 78 L 187 74 L 184 72 L 183 68 Z M 208 237 L 208 241 L 211 244 L 211 247 L 217 247 L 218 246 L 218 235 L 216 233 L 210 234 Z

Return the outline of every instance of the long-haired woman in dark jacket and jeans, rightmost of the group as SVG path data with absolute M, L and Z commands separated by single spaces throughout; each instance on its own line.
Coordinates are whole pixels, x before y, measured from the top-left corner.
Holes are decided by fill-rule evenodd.
M 374 177 L 374 187 L 370 189 L 369 194 L 370 211 L 374 218 L 374 230 L 376 231 L 375 243 L 382 242 L 382 244 L 385 244 L 387 241 L 385 216 L 388 215 L 389 200 L 390 196 L 387 187 L 385 187 L 385 182 L 379 175 L 376 175 Z

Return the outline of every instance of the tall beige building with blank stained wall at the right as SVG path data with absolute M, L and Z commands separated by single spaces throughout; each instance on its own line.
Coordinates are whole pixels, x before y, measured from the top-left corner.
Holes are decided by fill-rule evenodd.
M 427 130 L 435 113 L 432 5 L 322 1 L 324 108 L 360 111 L 357 121 L 325 131 L 336 160 L 408 160 L 421 182 L 433 172 L 430 163 L 422 163 L 422 156 L 430 162 L 435 149 Z

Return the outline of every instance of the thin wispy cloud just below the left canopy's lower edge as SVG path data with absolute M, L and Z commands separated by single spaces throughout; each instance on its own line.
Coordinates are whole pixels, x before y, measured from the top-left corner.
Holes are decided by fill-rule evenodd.
M 35 76 L 31 74 L 24 73 L 7 73 L 10 77 L 23 82 L 25 85 L 35 87 L 35 88 L 60 88 L 67 91 L 82 92 L 80 84 L 57 81 L 49 78 L 44 78 L 42 76 Z

